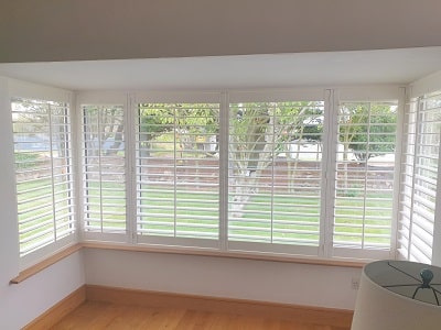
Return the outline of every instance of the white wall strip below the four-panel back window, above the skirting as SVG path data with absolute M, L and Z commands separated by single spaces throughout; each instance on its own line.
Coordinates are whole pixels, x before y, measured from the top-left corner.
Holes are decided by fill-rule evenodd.
M 86 283 L 354 309 L 359 268 L 87 249 Z

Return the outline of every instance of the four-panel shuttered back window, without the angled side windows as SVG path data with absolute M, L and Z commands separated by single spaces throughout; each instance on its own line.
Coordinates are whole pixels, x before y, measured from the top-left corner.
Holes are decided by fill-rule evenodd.
M 334 97 L 298 90 L 132 94 L 121 106 L 86 99 L 84 238 L 390 256 L 398 94 L 392 101 Z

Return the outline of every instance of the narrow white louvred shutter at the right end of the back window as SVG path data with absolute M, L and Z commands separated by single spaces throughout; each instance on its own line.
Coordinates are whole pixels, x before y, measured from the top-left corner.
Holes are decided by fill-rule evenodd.
M 337 121 L 334 254 L 367 256 L 363 251 L 384 250 L 377 257 L 388 257 L 397 103 L 341 102 Z

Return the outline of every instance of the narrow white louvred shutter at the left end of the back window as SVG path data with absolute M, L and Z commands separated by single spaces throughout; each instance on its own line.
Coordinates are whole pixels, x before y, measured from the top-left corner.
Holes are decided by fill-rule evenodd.
M 83 105 L 82 114 L 83 228 L 86 238 L 93 238 L 94 233 L 126 233 L 123 107 Z

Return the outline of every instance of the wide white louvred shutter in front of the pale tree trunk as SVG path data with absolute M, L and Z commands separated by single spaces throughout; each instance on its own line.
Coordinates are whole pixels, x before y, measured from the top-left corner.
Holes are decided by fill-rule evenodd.
M 320 100 L 230 103 L 230 249 L 318 254 L 323 111 Z

